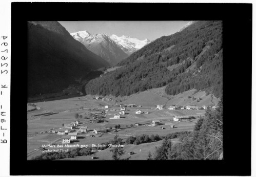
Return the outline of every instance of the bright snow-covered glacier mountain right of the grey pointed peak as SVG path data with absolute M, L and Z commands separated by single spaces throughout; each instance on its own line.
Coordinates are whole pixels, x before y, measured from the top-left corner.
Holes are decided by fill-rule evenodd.
M 144 46 L 146 46 L 150 40 L 139 40 L 137 38 L 131 38 L 130 36 L 121 36 L 118 37 L 116 35 L 111 35 L 110 38 L 114 40 L 117 45 L 121 47 L 121 49 L 128 55 L 140 50 Z

